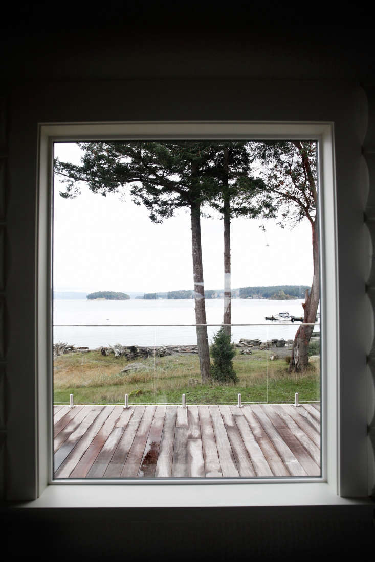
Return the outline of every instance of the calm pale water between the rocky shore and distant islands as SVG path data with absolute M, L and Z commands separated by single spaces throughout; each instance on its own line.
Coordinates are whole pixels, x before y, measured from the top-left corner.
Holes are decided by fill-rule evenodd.
M 233 299 L 231 304 L 232 324 L 265 324 L 265 316 L 278 312 L 289 312 L 302 316 L 302 300 L 269 301 L 256 299 Z M 222 321 L 223 300 L 206 300 L 208 337 L 217 332 Z M 55 300 L 53 301 L 53 324 L 88 324 L 91 327 L 54 327 L 53 342 L 67 342 L 77 347 L 91 349 L 114 343 L 122 345 L 162 346 L 194 345 L 197 336 L 194 327 L 110 327 L 110 324 L 194 324 L 195 312 L 193 300 L 157 300 L 145 301 L 134 299 L 128 301 L 89 301 L 89 300 Z M 103 324 L 104 327 L 93 327 Z M 107 327 L 108 326 L 108 327 Z M 293 338 L 298 324 L 269 326 L 234 326 L 232 339 Z

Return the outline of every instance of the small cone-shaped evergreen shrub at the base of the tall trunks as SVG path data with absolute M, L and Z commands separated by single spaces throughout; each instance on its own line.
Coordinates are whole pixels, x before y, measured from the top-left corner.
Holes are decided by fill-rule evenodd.
M 213 336 L 211 346 L 211 356 L 213 359 L 211 375 L 214 380 L 220 383 L 238 382 L 232 361 L 235 354 L 234 343 L 231 343 L 230 336 L 224 332 L 224 327 L 221 327 Z

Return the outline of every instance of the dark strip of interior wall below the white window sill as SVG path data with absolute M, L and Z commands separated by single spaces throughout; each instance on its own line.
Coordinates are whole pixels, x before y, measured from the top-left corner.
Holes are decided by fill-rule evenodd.
M 370 558 L 375 546 L 371 513 L 358 506 L 36 512 L 8 512 L 10 559 L 313 562 Z

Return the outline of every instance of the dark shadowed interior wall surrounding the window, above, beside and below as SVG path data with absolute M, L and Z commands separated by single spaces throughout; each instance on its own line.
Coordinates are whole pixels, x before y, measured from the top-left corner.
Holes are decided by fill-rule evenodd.
M 131 17 L 139 17 L 132 13 Z M 63 21 L 68 26 L 68 19 Z M 374 182 L 371 170 L 374 169 L 375 105 L 370 81 L 373 52 L 372 35 L 366 26 L 352 29 L 350 34 L 347 28 L 336 29 L 336 33 L 332 33 L 332 28 L 317 33 L 315 28 L 314 33 L 307 34 L 306 27 L 297 22 L 294 29 L 283 33 L 275 26 L 270 29 L 249 21 L 235 28 L 235 21 L 229 18 L 227 33 L 218 34 L 212 26 L 203 32 L 199 25 L 190 30 L 178 29 L 169 21 L 159 26 L 149 24 L 148 28 L 138 26 L 136 30 L 129 22 L 120 29 L 112 21 L 113 30 L 109 31 L 93 25 L 90 18 L 86 25 L 81 21 L 81 26 L 75 26 L 73 21 L 67 31 L 63 21 L 51 30 L 51 25 L 46 24 L 48 20 L 42 17 L 38 28 L 38 18 L 34 16 L 34 25 L 30 26 L 30 14 L 26 13 L 25 22 L 10 26 L 3 38 L 7 56 L 2 61 L 6 81 L 2 90 L 0 165 L 6 171 L 0 176 L 0 202 L 1 190 L 6 189 L 6 205 L 3 215 L 0 212 L 0 234 L 3 232 L 0 250 L 4 255 L 3 262 L 0 256 L 4 275 L 0 303 L 5 307 L 3 350 L 0 345 L 3 385 L 0 388 L 4 389 L 0 437 L 5 469 L 3 489 L 8 498 L 17 497 L 17 490 L 23 490 L 24 498 L 35 495 L 36 465 L 30 460 L 35 456 L 37 428 L 30 411 L 37 401 L 37 392 L 33 377 L 34 329 L 30 325 L 35 316 L 38 122 L 267 120 L 275 114 L 285 120 L 291 116 L 293 120 L 306 120 L 311 115 L 314 119 L 334 120 L 340 116 L 336 140 L 342 160 L 345 155 L 350 160 L 353 151 L 365 146 L 370 184 Z M 367 92 L 369 114 L 361 83 Z M 119 107 L 123 110 L 119 111 Z M 359 169 L 351 168 L 349 179 L 343 177 L 344 169 L 340 173 L 341 185 L 353 185 L 361 177 Z M 358 237 L 363 228 L 365 205 L 366 194 L 361 193 L 353 200 L 348 188 L 338 202 L 342 217 L 339 230 L 348 230 Z M 372 203 L 368 205 L 372 206 Z M 353 314 L 357 322 L 363 312 L 363 300 L 358 299 L 356 307 L 349 306 L 349 302 L 362 285 L 364 292 L 365 260 L 358 252 L 358 244 L 351 246 L 345 240 L 343 236 L 340 264 L 342 274 L 350 277 L 350 283 L 340 294 L 340 305 L 342 323 L 350 326 Z M 359 343 L 361 338 L 355 340 L 358 348 L 353 354 L 347 349 L 347 334 L 345 330 L 341 333 L 342 359 L 348 369 L 353 372 L 358 369 L 363 374 L 365 353 Z M 368 346 L 370 349 L 371 342 Z M 361 353 L 363 364 L 358 366 L 356 359 Z M 355 396 L 355 381 L 347 380 L 342 392 Z M 19 402 L 16 397 L 20 397 Z M 361 401 L 363 394 L 359 397 Z M 344 420 L 349 434 L 355 423 L 363 424 L 363 418 Z M 26 432 L 26 438 L 20 438 L 21 430 Z M 364 432 L 363 442 L 358 445 L 360 451 L 367 447 L 365 440 Z M 350 439 L 346 441 L 342 435 L 342 447 L 351 445 Z M 22 457 L 29 465 L 26 478 L 24 468 L 17 463 Z M 346 469 L 355 474 L 355 456 Z M 365 475 L 358 474 L 358 479 L 363 481 Z M 127 545 L 134 559 L 146 558 L 149 551 L 155 557 L 151 546 L 155 542 L 165 559 L 178 553 L 182 559 L 187 555 L 191 558 L 198 552 L 218 559 L 231 559 L 237 553 L 274 558 L 286 556 L 297 547 L 312 558 L 316 556 L 316 547 L 319 552 L 328 549 L 332 555 L 345 549 L 355 554 L 356 548 L 363 550 L 371 540 L 373 531 L 371 511 L 360 508 L 352 511 L 279 508 L 256 512 L 250 508 L 92 510 L 90 513 L 15 510 L 8 511 L 7 517 L 11 523 L 11 544 L 16 545 L 15 556 L 38 553 L 37 542 L 25 545 L 17 541 L 15 534 L 16 530 L 19 533 L 20 529 L 31 528 L 34 537 L 43 529 L 44 537 L 46 533 L 51 537 L 50 547 L 54 533 L 69 537 L 63 546 L 61 538 L 57 538 L 60 554 L 55 552 L 55 556 L 61 558 L 69 556 L 70 547 L 83 558 L 86 555 L 105 558 L 126 554 Z M 82 527 L 80 536 L 74 532 L 78 523 Z

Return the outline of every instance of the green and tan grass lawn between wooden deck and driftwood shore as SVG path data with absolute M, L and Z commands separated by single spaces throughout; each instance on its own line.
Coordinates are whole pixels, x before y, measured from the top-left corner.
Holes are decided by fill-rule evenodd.
M 130 404 L 180 404 L 182 393 L 187 403 L 225 402 L 235 404 L 238 393 L 242 402 L 293 402 L 294 393 L 303 401 L 320 400 L 319 364 L 309 366 L 302 374 L 289 374 L 285 359 L 270 361 L 266 351 L 253 351 L 233 359 L 238 383 L 234 385 L 200 384 L 198 355 L 169 355 L 127 361 L 114 355 L 102 356 L 100 351 L 66 353 L 55 357 L 54 400 L 69 402 L 123 402 Z M 141 363 L 137 371 L 120 371 L 132 362 Z M 198 383 L 194 380 L 198 380 Z

